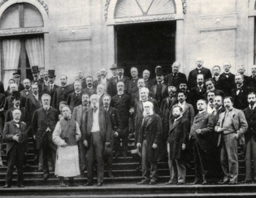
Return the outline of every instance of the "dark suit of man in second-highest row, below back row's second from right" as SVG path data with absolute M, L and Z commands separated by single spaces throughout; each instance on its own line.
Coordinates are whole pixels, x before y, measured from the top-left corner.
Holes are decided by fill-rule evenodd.
M 231 96 L 234 99 L 233 107 L 243 110 L 248 107 L 247 95 L 250 91 L 249 87 L 243 85 L 237 95 L 237 88 L 232 89 Z

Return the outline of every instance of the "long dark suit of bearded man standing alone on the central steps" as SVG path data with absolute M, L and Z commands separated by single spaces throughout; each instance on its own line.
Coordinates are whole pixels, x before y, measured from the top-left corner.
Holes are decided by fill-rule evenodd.
M 118 136 L 119 141 L 117 141 L 117 144 L 120 143 L 120 139 L 122 139 L 122 150 L 124 152 L 128 151 L 128 134 L 129 134 L 129 117 L 130 117 L 130 96 L 128 96 L 126 93 L 122 95 L 116 95 L 112 97 L 111 99 L 111 107 L 114 107 L 117 109 L 118 114 L 120 115 L 120 121 L 122 125 L 122 130 L 120 131 L 120 134 Z M 119 145 L 119 150 L 121 150 Z

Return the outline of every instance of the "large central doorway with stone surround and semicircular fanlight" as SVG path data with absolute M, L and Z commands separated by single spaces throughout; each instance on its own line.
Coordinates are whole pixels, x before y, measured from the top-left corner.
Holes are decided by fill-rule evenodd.
M 157 65 L 170 72 L 183 60 L 183 7 L 175 0 L 116 0 L 108 9 L 108 62 L 122 63 L 151 74 Z M 114 38 L 111 38 L 111 35 Z M 114 51 L 113 51 L 114 49 Z M 151 75 L 152 77 L 153 75 Z

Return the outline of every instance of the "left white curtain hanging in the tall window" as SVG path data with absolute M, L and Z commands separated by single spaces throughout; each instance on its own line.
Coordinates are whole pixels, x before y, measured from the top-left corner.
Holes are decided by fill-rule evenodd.
M 18 69 L 19 57 L 21 55 L 21 40 L 4 39 L 3 40 L 3 64 L 4 69 L 11 71 L 4 72 L 4 85 L 8 85 L 9 79 L 13 78 L 13 73 Z

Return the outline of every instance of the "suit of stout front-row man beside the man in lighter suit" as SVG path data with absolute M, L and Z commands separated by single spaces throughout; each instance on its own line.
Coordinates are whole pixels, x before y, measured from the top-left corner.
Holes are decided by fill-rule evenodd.
M 211 173 L 213 166 L 211 153 L 217 147 L 212 142 L 214 138 L 214 124 L 214 115 L 206 111 L 198 113 L 194 117 L 189 138 L 193 141 L 194 145 L 195 182 L 200 181 L 200 172 L 204 182 L 208 182 L 213 176 Z M 196 132 L 197 129 L 201 129 L 201 134 Z

